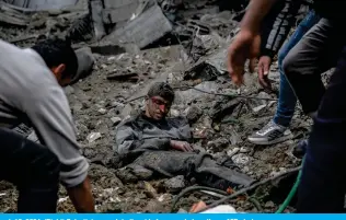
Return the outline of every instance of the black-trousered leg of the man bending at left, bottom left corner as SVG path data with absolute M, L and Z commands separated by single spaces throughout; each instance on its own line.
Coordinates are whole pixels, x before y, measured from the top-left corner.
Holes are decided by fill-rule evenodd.
M 8 129 L 0 129 L 0 178 L 16 185 L 18 212 L 56 212 L 60 171 L 57 157 Z

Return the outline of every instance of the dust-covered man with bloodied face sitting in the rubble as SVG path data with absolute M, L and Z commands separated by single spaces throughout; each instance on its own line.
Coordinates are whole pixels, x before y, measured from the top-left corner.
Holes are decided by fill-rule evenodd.
M 174 91 L 163 82 L 151 86 L 146 109 L 117 127 L 114 150 L 127 167 L 141 167 L 166 177 L 184 175 L 200 185 L 227 189 L 249 186 L 253 180 L 194 151 L 192 130 L 184 117 L 166 118 Z M 228 161 L 230 162 L 230 161 Z

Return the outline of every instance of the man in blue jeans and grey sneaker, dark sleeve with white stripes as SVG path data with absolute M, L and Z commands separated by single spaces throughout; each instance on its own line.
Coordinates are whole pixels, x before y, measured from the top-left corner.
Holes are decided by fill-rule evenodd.
M 311 4 L 311 2 L 305 3 Z M 296 21 L 300 7 L 300 1 L 277 1 L 274 9 L 264 20 L 261 30 L 262 40 L 258 59 L 258 79 L 261 85 L 264 88 L 270 88 L 268 73 L 273 58 L 284 44 L 284 40 Z M 266 146 L 284 142 L 292 138 L 292 134 L 288 127 L 295 114 L 297 97 L 285 77 L 282 61 L 290 49 L 295 47 L 302 36 L 319 21 L 320 16 L 315 13 L 315 11 L 310 10 L 289 40 L 280 49 L 278 54 L 280 88 L 276 114 L 267 125 L 247 138 L 250 142 Z M 302 143 L 305 142 L 307 141 L 302 141 Z

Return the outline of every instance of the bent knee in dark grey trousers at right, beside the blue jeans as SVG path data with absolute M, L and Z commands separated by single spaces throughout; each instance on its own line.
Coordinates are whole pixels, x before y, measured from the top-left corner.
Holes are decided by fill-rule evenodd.
M 321 74 L 335 67 L 344 38 L 335 24 L 321 19 L 284 60 L 285 74 L 308 115 L 320 105 L 325 91 Z

